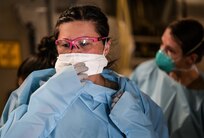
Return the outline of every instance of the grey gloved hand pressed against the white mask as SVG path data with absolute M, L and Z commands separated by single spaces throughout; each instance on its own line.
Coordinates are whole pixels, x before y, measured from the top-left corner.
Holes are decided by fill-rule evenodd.
M 88 70 L 88 67 L 85 65 L 85 63 L 79 62 L 74 65 L 74 69 L 76 70 L 80 81 L 83 83 L 84 80 L 88 78 L 88 74 L 84 73 Z

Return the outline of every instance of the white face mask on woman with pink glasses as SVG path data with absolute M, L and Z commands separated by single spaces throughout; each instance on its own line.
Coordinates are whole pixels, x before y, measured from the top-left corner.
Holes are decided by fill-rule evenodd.
M 85 54 L 85 53 L 70 53 L 60 54 L 55 63 L 56 72 L 62 71 L 62 69 L 68 65 L 75 65 L 76 63 L 84 62 L 88 67 L 88 71 L 84 72 L 88 76 L 100 74 L 103 68 L 107 66 L 108 60 L 104 55 L 100 54 Z

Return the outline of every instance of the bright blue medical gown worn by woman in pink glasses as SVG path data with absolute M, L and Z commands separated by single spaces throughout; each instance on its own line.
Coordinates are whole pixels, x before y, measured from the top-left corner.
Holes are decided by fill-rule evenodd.
M 111 70 L 102 75 L 120 89 L 82 85 L 72 66 L 33 72 L 5 106 L 1 138 L 168 137 L 161 109 L 133 81 Z M 110 110 L 117 92 L 123 95 Z

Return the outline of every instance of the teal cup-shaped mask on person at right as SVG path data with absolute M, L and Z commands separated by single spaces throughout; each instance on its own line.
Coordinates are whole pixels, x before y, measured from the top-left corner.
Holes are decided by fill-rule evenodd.
M 156 54 L 156 64 L 161 70 L 167 73 L 173 71 L 176 67 L 173 59 L 162 50 L 159 50 Z

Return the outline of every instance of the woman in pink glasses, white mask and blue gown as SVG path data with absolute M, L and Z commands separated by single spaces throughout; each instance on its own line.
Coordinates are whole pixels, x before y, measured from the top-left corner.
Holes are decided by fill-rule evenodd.
M 66 9 L 54 34 L 55 70 L 35 71 L 24 81 L 17 90 L 21 104 L 1 127 L 1 137 L 168 137 L 162 110 L 133 81 L 104 69 L 111 62 L 111 38 L 98 7 Z

